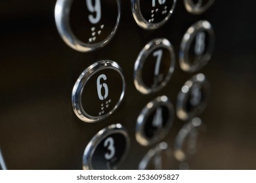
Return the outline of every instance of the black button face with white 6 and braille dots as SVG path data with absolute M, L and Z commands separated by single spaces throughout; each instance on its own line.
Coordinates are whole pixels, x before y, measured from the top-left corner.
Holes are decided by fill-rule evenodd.
M 83 88 L 81 105 L 89 116 L 103 116 L 116 107 L 122 93 L 123 80 L 116 70 L 95 71 Z

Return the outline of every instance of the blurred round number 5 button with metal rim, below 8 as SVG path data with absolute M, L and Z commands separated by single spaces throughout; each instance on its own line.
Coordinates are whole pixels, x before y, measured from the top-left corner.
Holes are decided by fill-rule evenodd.
M 209 82 L 203 74 L 186 81 L 178 94 L 177 116 L 181 120 L 190 120 L 203 112 L 210 95 Z

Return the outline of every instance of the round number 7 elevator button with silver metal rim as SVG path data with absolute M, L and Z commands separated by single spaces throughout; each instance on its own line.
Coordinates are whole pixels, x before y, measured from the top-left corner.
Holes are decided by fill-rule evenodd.
M 158 92 L 171 79 L 175 53 L 167 39 L 154 39 L 141 50 L 135 62 L 134 84 L 140 93 Z

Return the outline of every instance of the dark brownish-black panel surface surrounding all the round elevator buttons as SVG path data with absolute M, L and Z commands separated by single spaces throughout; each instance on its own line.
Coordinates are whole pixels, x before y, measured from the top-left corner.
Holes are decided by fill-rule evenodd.
M 216 0 L 200 16 L 186 12 L 178 1 L 167 24 L 155 31 L 141 29 L 131 2 L 121 1 L 114 39 L 91 53 L 72 50 L 62 41 L 54 22 L 55 3 L 0 2 L 0 147 L 9 169 L 81 169 L 83 151 L 93 135 L 116 123 L 123 124 L 131 138 L 120 168 L 137 169 L 153 147 L 136 142 L 137 116 L 158 95 L 167 95 L 175 106 L 182 84 L 192 76 L 179 67 L 179 45 L 186 29 L 198 20 L 211 22 L 216 44 L 213 58 L 200 70 L 211 84 L 211 100 L 200 115 L 207 131 L 189 159 L 190 169 L 256 169 L 255 1 Z M 144 45 L 159 37 L 175 48 L 175 73 L 163 90 L 142 95 L 133 84 L 134 63 Z M 72 88 L 83 70 L 101 59 L 112 59 L 123 68 L 125 99 L 110 118 L 85 124 L 73 112 Z M 171 148 L 183 124 L 176 118 L 164 139 Z

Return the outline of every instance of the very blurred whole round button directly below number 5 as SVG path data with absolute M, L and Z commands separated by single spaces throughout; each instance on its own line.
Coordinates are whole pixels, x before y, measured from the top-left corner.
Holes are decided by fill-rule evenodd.
M 175 137 L 174 157 L 178 161 L 185 161 L 188 156 L 196 153 L 199 129 L 202 127 L 200 118 L 193 118 L 184 124 Z

